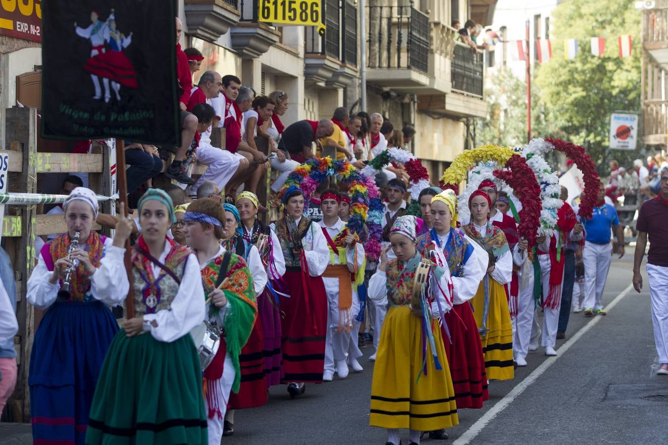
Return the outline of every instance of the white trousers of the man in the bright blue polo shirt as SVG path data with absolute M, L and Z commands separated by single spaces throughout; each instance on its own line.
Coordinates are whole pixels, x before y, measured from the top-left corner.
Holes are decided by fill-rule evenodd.
M 582 301 L 584 309 L 603 309 L 601 297 L 610 270 L 612 250 L 610 243 L 585 242 L 582 250 L 582 261 L 585 263 L 585 300 Z

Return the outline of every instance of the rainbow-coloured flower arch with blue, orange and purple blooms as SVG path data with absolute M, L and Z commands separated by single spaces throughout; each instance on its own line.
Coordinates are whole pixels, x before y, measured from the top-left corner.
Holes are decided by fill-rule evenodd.
M 297 165 L 285 181 L 281 196 L 290 185 L 297 185 L 304 192 L 304 206 L 309 201 L 318 185 L 327 177 L 337 177 L 348 184 L 350 193 L 350 217 L 347 227 L 364 242 L 367 259 L 377 261 L 380 256 L 380 242 L 383 237 L 381 220 L 383 203 L 373 176 L 369 177 L 357 171 L 355 166 L 344 159 L 333 161 L 331 157 L 308 159 Z M 368 236 L 365 230 L 368 229 Z

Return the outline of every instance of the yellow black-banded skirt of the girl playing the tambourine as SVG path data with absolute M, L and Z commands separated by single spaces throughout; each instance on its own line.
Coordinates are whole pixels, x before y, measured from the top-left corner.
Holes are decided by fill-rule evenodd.
M 407 306 L 392 306 L 381 332 L 373 381 L 369 425 L 432 431 L 459 424 L 448 358 L 440 328 L 434 341 L 442 370 L 434 367 L 430 348 L 427 375 L 422 372 L 422 320 Z M 418 383 L 415 383 L 420 376 Z

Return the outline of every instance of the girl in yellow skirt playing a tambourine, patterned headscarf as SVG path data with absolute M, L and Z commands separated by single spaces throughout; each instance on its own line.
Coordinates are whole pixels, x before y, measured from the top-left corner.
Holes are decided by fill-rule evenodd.
M 415 226 L 414 216 L 397 217 L 391 245 L 383 249 L 369 281 L 369 297 L 390 306 L 373 368 L 369 424 L 387 428 L 391 445 L 399 445 L 399 428 L 410 430 L 410 445 L 420 444 L 422 431 L 459 424 L 438 321 L 452 308 L 452 280 L 450 272 L 432 265 L 426 298 L 420 308 L 411 307 L 413 277 L 422 262 L 415 249 Z M 390 247 L 396 260 L 387 260 Z

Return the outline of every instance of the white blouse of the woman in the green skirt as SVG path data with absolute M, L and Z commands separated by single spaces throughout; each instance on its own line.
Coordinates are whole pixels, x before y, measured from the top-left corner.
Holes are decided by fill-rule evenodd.
M 164 263 L 170 252 L 170 244 L 165 240 L 165 248 L 160 254 Z M 160 273 L 160 267 L 150 263 L 154 276 Z M 97 274 L 96 274 L 97 275 Z M 155 314 L 145 314 L 144 320 L 158 323 L 151 329 L 151 335 L 159 342 L 171 343 L 188 334 L 192 328 L 204 322 L 204 287 L 200 275 L 199 262 L 195 254 L 188 255 L 186 269 L 183 271 L 181 284 L 169 309 L 159 310 Z

